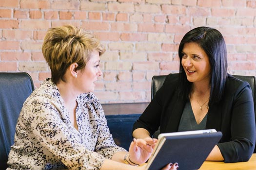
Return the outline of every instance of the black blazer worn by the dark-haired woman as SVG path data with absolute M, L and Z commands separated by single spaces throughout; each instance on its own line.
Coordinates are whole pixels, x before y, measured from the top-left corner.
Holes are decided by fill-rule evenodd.
M 145 128 L 151 135 L 177 132 L 186 100 L 178 97 L 175 78 L 168 75 L 155 98 L 135 122 L 133 131 Z M 247 82 L 229 75 L 225 94 L 220 104 L 209 107 L 206 129 L 221 131 L 223 136 L 217 144 L 225 162 L 248 161 L 254 152 L 256 141 L 254 102 Z

